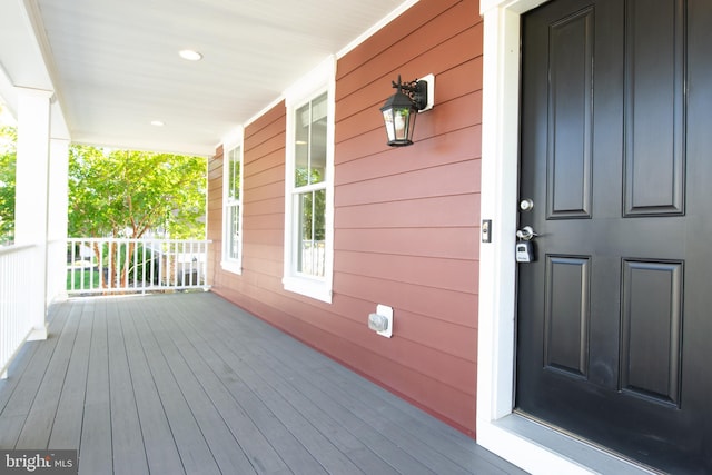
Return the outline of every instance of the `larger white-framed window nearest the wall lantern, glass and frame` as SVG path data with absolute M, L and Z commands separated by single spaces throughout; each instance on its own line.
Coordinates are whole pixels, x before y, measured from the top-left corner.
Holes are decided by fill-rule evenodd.
M 327 86 L 287 95 L 284 284 L 287 290 L 330 303 L 334 95 L 333 68 L 322 69 L 320 83 Z

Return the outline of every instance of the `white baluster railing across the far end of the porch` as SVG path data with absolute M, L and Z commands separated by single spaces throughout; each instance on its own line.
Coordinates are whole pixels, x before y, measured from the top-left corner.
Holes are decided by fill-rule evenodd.
M 67 239 L 69 295 L 209 288 L 207 240 Z

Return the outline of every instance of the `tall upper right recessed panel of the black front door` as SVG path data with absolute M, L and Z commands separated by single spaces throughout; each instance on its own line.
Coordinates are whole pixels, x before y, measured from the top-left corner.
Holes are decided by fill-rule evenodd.
M 684 212 L 683 7 L 627 1 L 626 216 Z

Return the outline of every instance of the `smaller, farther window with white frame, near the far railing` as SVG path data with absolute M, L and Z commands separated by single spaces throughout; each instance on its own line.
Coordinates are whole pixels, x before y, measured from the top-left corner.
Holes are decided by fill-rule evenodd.
M 239 274 L 243 261 L 243 146 L 226 147 L 222 181 L 222 268 Z

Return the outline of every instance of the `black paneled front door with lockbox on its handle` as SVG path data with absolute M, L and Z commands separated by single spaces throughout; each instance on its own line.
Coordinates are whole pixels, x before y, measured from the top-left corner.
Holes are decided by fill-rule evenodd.
M 522 23 L 517 410 L 675 474 L 712 473 L 711 31 L 709 0 Z

